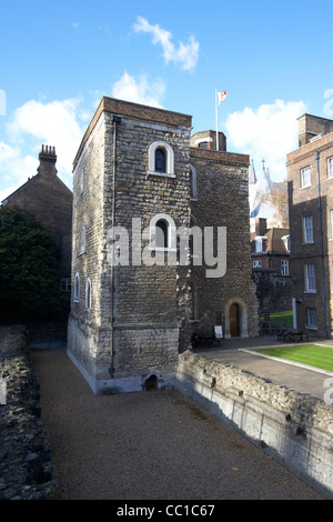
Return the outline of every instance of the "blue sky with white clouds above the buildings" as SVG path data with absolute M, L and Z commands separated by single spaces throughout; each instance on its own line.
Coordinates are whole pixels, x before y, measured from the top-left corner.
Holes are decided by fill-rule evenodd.
M 102 96 L 193 117 L 285 179 L 296 118 L 333 118 L 332 0 L 0 0 L 0 200 L 54 145 L 60 178 Z

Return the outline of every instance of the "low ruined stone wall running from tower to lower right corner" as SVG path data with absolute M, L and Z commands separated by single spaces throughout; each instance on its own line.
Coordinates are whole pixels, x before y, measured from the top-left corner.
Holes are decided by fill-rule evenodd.
M 176 388 L 333 498 L 332 405 L 190 351 Z

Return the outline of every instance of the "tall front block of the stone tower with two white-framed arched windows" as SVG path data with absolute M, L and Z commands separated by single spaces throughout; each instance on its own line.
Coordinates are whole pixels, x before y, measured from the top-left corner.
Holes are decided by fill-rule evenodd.
M 74 160 L 69 354 L 94 392 L 173 383 L 190 130 L 189 116 L 103 98 Z

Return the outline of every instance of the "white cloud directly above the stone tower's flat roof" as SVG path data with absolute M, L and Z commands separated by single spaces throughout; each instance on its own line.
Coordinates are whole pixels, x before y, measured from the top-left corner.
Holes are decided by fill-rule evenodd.
M 145 76 L 137 80 L 127 71 L 112 87 L 114 98 L 159 108 L 162 108 L 161 99 L 164 93 L 163 80 L 157 79 L 151 83 Z

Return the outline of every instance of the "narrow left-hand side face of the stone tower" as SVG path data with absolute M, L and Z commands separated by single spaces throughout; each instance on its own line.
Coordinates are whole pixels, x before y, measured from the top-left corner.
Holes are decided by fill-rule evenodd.
M 99 330 L 103 331 L 110 327 L 110 313 L 103 314 L 101 310 L 103 302 L 110 298 L 110 283 L 108 283 L 110 274 L 103 273 L 107 255 L 103 241 L 104 141 L 104 118 L 101 114 L 90 139 L 85 141 L 73 173 L 72 295 L 68 351 L 91 382 L 98 371 L 98 357 L 108 357 L 104 353 L 108 352 L 108 348 L 104 348 L 102 354 L 99 353 Z M 84 233 L 85 244 L 83 244 Z M 78 299 L 74 295 L 77 274 L 80 281 Z M 85 307 L 88 280 L 91 282 L 90 309 Z M 107 325 L 103 321 L 107 321 Z M 110 350 L 109 347 L 109 353 Z

